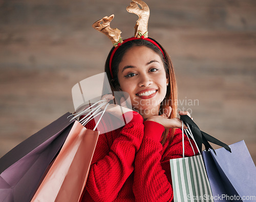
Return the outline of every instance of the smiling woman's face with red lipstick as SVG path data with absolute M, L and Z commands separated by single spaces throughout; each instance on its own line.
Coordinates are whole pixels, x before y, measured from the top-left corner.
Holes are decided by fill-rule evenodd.
M 118 67 L 120 90 L 130 95 L 143 118 L 158 115 L 168 79 L 158 54 L 146 46 L 127 50 Z

